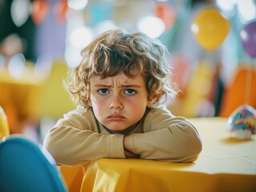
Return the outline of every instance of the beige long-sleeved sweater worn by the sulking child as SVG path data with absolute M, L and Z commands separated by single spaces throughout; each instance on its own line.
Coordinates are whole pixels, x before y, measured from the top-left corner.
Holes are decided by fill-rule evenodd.
M 202 147 L 196 128 L 165 106 L 147 109 L 125 142 L 124 134 L 109 133 L 91 109 L 79 106 L 59 119 L 43 143 L 58 165 L 70 166 L 98 158 L 125 158 L 124 146 L 140 158 L 173 162 L 196 160 Z

